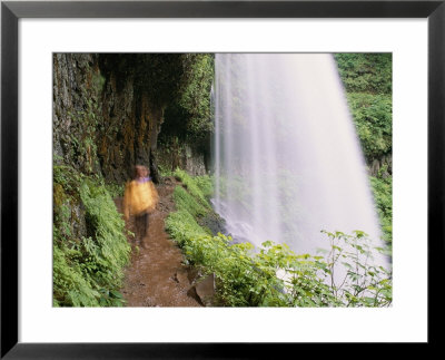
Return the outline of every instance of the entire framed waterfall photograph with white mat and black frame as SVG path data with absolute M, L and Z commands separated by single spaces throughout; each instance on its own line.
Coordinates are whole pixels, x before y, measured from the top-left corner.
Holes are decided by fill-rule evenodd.
M 433 323 L 443 314 L 437 289 L 444 261 L 444 1 L 3 1 L 1 358 L 263 358 L 266 349 L 293 351 L 301 344 L 437 344 Z M 342 80 L 337 69 L 332 77 L 334 64 Z M 70 89 L 82 99 L 76 103 L 65 93 Z M 335 89 L 340 89 L 338 97 Z M 201 93 L 208 96 L 197 104 Z M 140 100 L 131 105 L 136 97 Z M 150 104 L 159 104 L 160 113 Z M 97 118 L 99 107 L 103 119 Z M 344 166 L 355 160 L 348 147 L 336 153 L 348 142 L 347 130 L 339 130 L 343 118 L 349 120 L 348 111 L 362 146 L 367 146 L 365 157 L 372 159 L 366 160 L 369 174 L 376 176 L 373 186 L 379 187 L 382 237 L 392 244 L 387 279 L 363 282 L 360 288 L 357 270 L 345 275 L 356 276 L 350 290 L 334 286 L 334 280 L 325 286 L 315 278 L 309 282 L 308 269 L 316 264 L 318 272 L 332 274 L 329 261 L 325 264 L 319 256 L 310 262 L 286 253 L 286 264 L 293 259 L 294 267 L 271 282 L 263 276 L 266 261 L 278 269 L 286 250 L 253 242 L 253 247 L 273 250 L 256 257 L 254 273 L 263 275 L 249 285 L 247 300 L 240 300 L 239 284 L 224 282 L 214 265 L 208 276 L 211 272 L 202 264 L 194 275 L 168 274 L 172 286 L 188 276 L 182 300 L 166 295 L 157 302 L 156 293 L 146 292 L 139 296 L 140 289 L 154 285 L 137 276 L 120 290 L 122 273 L 110 269 L 123 269 L 130 251 L 147 259 L 140 271 L 157 266 L 152 254 L 160 249 L 147 245 L 144 234 L 157 231 L 157 218 L 174 208 L 188 213 L 168 218 L 168 234 L 162 217 L 158 235 L 181 243 L 189 254 L 186 264 L 199 263 L 197 259 L 205 259 L 216 242 L 237 245 L 244 236 L 249 242 L 264 234 L 269 240 L 277 233 L 286 236 L 284 228 L 294 237 L 299 232 L 308 237 L 313 231 L 308 218 L 328 213 L 328 203 L 338 217 L 342 203 L 349 208 L 348 220 L 365 218 L 359 211 L 367 200 L 359 195 L 359 179 Z M 125 128 L 126 117 L 135 118 L 130 125 L 139 135 Z M 298 117 L 307 121 L 295 128 L 293 119 Z M 80 125 L 72 125 L 79 118 Z M 159 118 L 159 124 L 151 118 Z M 376 125 L 360 127 L 360 118 Z M 55 121 L 60 124 L 57 130 Z M 91 133 L 95 127 L 101 129 L 100 136 Z M 244 136 L 246 128 L 258 137 Z M 184 145 L 181 129 L 196 148 L 211 143 L 216 149 L 211 159 L 196 157 L 195 147 L 184 147 L 184 156 L 176 156 Z M 217 135 L 210 139 L 210 133 Z M 317 136 L 315 147 L 313 136 Z M 298 159 L 296 148 L 305 154 Z M 268 155 L 278 153 L 280 157 Z M 76 159 L 72 167 L 67 167 L 67 156 Z M 175 171 L 180 164 L 194 175 L 211 173 L 218 179 L 212 183 L 211 205 L 202 196 L 206 178 L 195 181 Z M 294 168 L 316 174 L 298 177 Z M 97 169 L 105 176 L 95 176 Z M 243 183 L 244 177 L 249 179 Z M 330 197 L 335 191 L 317 187 L 318 178 L 327 177 L 337 189 L 343 184 L 336 196 Z M 258 178 L 266 187 L 258 185 Z M 179 182 L 184 186 L 176 189 Z M 271 189 L 267 185 L 271 183 L 281 187 Z M 155 205 L 144 205 L 144 216 L 135 211 L 142 195 L 132 197 L 141 186 L 156 198 Z M 238 207 L 230 212 L 234 197 Z M 290 216 L 281 225 L 274 217 L 277 198 L 281 205 L 284 198 L 288 203 L 287 212 L 279 210 L 280 218 L 304 212 L 309 217 L 301 215 L 298 222 Z M 363 206 L 355 208 L 348 198 Z M 266 211 L 259 213 L 247 203 Z M 238 211 L 239 204 L 244 211 Z M 152 213 L 155 206 L 161 210 Z M 215 217 L 202 215 L 206 206 L 226 221 L 226 233 L 233 237 L 220 234 Z M 186 217 L 192 213 L 200 214 L 199 226 L 207 235 L 190 230 Z M 86 221 L 75 224 L 75 217 Z M 254 226 L 246 225 L 249 221 Z M 263 224 L 261 236 L 251 232 Z M 119 237 L 123 233 L 128 242 Z M 366 237 L 360 231 L 354 234 L 325 235 L 346 242 Z M 191 246 L 194 236 L 207 239 L 209 245 Z M 70 245 L 61 239 L 69 239 Z M 354 249 L 363 253 L 362 247 Z M 236 251 L 237 264 L 246 264 L 246 249 Z M 350 266 L 346 254 L 343 264 Z M 100 260 L 90 261 L 93 256 Z M 235 261 L 230 256 L 222 263 Z M 274 265 L 271 257 L 277 261 Z M 357 269 L 362 266 L 362 257 L 354 259 Z M 286 278 L 290 270 L 293 279 L 306 280 L 304 285 Z M 386 270 L 375 266 L 370 278 L 380 276 L 380 271 Z M 237 276 L 241 279 L 240 272 Z M 211 280 L 215 290 L 215 278 L 228 290 L 222 300 L 208 305 L 202 286 Z M 280 288 L 284 284 L 293 285 Z M 298 300 L 303 286 L 305 294 Z

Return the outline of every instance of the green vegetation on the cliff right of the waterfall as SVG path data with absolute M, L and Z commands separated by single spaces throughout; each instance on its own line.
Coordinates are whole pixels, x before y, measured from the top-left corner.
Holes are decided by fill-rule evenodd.
M 393 241 L 393 58 L 392 53 L 336 53 L 362 148 L 384 239 Z

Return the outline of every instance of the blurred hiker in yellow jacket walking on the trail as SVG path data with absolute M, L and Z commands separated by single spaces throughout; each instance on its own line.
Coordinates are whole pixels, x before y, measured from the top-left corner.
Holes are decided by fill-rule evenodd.
M 149 169 L 144 165 L 136 165 L 135 179 L 127 183 L 123 194 L 123 216 L 128 222 L 135 216 L 136 231 L 140 234 L 140 244 L 145 247 L 145 237 L 148 236 L 149 214 L 156 208 L 159 201 L 158 192 L 149 176 Z

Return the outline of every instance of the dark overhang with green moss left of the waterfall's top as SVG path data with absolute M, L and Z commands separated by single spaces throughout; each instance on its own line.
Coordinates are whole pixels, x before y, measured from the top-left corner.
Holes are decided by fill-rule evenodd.
M 210 111 L 211 53 L 103 53 L 99 61 L 106 77 L 113 74 L 118 90 L 134 77 L 135 86 L 154 105 L 179 106 L 196 136 L 211 126 L 210 121 L 202 123 Z

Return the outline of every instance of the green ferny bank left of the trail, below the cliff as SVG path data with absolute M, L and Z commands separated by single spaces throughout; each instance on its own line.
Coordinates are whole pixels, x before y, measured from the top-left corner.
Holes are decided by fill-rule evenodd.
M 103 182 L 68 166 L 55 166 L 53 181 L 53 305 L 122 307 L 130 245 Z

